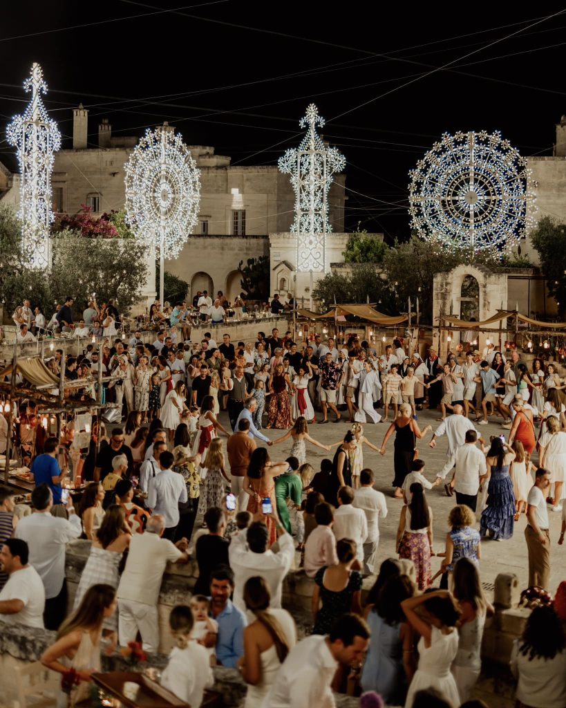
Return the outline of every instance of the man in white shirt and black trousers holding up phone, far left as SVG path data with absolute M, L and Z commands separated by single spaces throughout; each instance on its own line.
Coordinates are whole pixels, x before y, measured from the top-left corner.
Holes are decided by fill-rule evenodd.
M 65 582 L 65 551 L 67 544 L 79 538 L 83 531 L 69 494 L 69 520 L 51 515 L 53 495 L 47 484 L 40 484 L 31 493 L 35 511 L 16 526 L 14 536 L 28 544 L 30 565 L 39 573 L 45 586 L 45 628 L 59 629 L 67 617 L 67 583 Z

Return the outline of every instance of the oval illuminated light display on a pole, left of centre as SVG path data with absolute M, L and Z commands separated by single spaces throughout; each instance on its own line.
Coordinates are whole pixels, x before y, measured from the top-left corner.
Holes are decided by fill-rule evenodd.
M 127 222 L 159 253 L 161 304 L 165 258 L 178 257 L 200 205 L 200 170 L 174 130 L 167 123 L 147 130 L 125 165 Z

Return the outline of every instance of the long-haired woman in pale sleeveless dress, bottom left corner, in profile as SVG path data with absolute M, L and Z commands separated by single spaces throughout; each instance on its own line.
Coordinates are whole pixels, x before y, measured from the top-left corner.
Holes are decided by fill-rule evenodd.
M 79 607 L 63 622 L 55 643 L 43 652 L 41 663 L 52 671 L 66 674 L 74 668 L 81 683 L 71 692 L 71 704 L 88 698 L 91 675 L 100 671 L 100 638 L 103 622 L 116 610 L 116 591 L 109 585 L 93 585 Z M 115 642 L 114 642 L 115 643 Z M 67 695 L 60 692 L 58 706 L 67 706 Z

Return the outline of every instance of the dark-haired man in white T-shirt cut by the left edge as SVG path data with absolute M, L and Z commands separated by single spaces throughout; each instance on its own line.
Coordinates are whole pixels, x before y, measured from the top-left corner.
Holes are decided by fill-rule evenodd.
M 0 592 L 1 621 L 43 629 L 45 588 L 35 568 L 28 565 L 28 544 L 18 538 L 6 539 L 0 567 L 10 576 Z

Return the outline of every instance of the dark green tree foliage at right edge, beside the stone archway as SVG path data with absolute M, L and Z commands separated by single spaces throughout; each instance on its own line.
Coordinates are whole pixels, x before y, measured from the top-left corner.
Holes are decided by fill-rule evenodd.
M 566 224 L 553 217 L 543 217 L 531 232 L 531 242 L 541 259 L 548 293 L 563 315 L 566 312 Z

